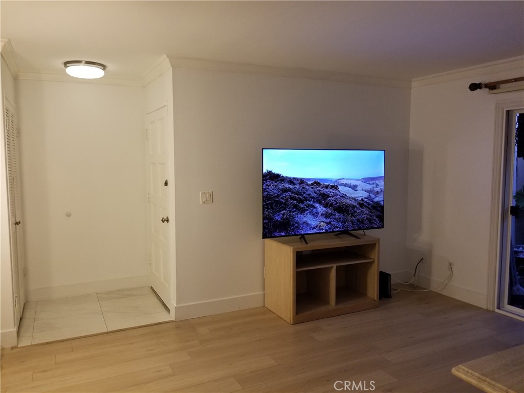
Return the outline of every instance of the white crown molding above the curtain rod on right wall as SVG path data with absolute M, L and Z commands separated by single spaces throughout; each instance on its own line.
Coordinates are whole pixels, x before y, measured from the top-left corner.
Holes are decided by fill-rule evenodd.
M 459 79 L 475 78 L 481 75 L 494 74 L 504 71 L 518 71 L 519 75 L 524 71 L 524 56 L 494 61 L 491 63 L 474 65 L 473 67 L 461 68 L 459 70 L 428 75 L 427 77 L 415 78 L 411 82 L 412 88 L 428 86 L 432 84 L 456 81 Z

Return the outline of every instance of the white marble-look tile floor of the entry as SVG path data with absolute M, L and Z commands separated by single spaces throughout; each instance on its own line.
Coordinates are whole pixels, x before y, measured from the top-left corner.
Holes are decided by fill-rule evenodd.
M 18 346 L 170 320 L 149 287 L 28 302 L 18 328 Z

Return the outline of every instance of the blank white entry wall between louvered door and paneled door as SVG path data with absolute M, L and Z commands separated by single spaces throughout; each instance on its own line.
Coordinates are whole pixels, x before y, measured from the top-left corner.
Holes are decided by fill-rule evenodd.
M 18 80 L 17 95 L 28 300 L 147 285 L 143 89 Z

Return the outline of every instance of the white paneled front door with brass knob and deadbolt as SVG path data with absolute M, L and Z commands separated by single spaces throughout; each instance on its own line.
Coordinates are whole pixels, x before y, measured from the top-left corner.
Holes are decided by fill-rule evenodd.
M 169 148 L 167 108 L 147 114 L 147 188 L 149 264 L 151 287 L 169 307 L 171 304 L 171 258 L 169 219 Z M 171 222 L 171 223 L 170 223 Z

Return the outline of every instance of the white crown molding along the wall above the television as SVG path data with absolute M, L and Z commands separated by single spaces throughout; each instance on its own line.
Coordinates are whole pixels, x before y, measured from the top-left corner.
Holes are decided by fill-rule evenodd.
M 395 80 L 385 78 L 366 77 L 345 72 L 310 70 L 305 68 L 272 67 L 269 65 L 231 63 L 194 58 L 169 58 L 173 68 L 190 68 L 208 71 L 239 72 L 247 74 L 274 75 L 277 77 L 316 79 L 324 81 L 337 81 L 377 86 L 390 86 L 396 88 L 411 88 L 409 80 Z

